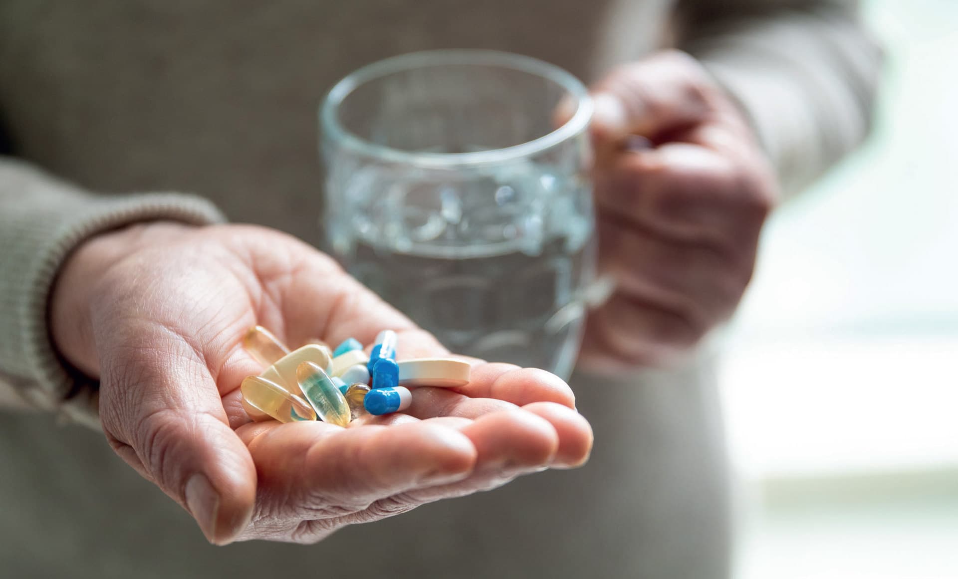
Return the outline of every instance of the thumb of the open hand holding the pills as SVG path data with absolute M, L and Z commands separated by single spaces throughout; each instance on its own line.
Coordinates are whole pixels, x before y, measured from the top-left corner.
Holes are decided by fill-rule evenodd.
M 114 451 L 184 506 L 211 543 L 231 542 L 252 517 L 256 470 L 198 350 L 149 323 L 97 342 L 100 414 Z

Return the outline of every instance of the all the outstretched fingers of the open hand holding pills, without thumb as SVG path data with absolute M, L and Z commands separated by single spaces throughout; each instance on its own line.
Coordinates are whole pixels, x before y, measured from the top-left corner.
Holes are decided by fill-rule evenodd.
M 342 524 L 494 488 L 548 467 L 578 466 L 592 432 L 559 404 L 341 429 L 321 422 L 247 424 L 260 480 L 257 536 L 314 542 Z M 289 535 L 289 520 L 306 520 Z

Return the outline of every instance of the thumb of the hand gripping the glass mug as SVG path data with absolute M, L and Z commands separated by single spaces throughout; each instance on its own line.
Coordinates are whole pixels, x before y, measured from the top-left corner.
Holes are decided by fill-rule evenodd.
M 711 80 L 692 56 L 668 51 L 615 69 L 592 87 L 592 137 L 621 145 L 638 135 L 653 141 L 702 122 L 711 112 Z

